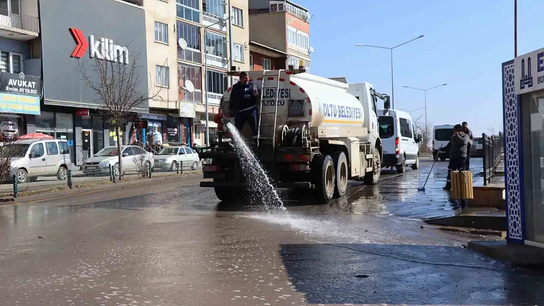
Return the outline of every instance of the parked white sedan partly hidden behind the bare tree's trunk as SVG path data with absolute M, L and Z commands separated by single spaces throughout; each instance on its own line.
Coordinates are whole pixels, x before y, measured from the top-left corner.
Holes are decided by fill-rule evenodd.
M 123 171 L 139 170 L 140 167 L 153 167 L 153 153 L 138 146 L 121 146 Z M 119 175 L 119 153 L 117 146 L 105 147 L 86 159 L 81 165 L 83 173 L 109 173 L 112 166 L 115 175 Z

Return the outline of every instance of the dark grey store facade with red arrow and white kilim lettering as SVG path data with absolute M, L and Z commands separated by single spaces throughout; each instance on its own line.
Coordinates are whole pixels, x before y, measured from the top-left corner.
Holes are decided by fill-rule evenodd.
M 76 165 L 116 145 L 118 137 L 123 144 L 130 143 L 133 118 L 116 135 L 84 77 L 98 80 L 96 61 L 109 64 L 117 59 L 115 65 L 127 69 L 135 61 L 142 76 L 135 90 L 148 91 L 144 9 L 118 0 L 39 0 L 39 10 L 44 98 L 41 115 L 30 119 L 35 132 L 68 140 Z M 149 104 L 141 103 L 133 110 L 149 113 Z

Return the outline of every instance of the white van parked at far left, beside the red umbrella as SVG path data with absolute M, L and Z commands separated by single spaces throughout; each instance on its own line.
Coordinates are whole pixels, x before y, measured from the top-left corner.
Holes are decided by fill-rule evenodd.
M 72 166 L 70 146 L 65 139 L 17 140 L 1 149 L 10 150 L 8 154 L 12 158 L 8 179 L 15 175 L 17 183 L 34 182 L 39 176 L 56 176 L 65 180 Z

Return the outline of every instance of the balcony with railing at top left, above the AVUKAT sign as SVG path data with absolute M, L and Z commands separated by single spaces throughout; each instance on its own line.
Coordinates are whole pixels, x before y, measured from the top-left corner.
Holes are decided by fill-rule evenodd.
M 40 18 L 0 9 L 0 36 L 26 41 L 37 38 L 39 33 Z

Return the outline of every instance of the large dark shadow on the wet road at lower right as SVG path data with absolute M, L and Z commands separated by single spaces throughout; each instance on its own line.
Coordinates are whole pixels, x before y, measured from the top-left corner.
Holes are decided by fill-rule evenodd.
M 281 245 L 289 277 L 309 304 L 539 305 L 544 276 L 462 247 Z

